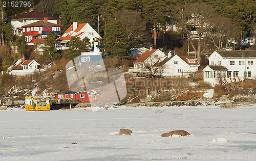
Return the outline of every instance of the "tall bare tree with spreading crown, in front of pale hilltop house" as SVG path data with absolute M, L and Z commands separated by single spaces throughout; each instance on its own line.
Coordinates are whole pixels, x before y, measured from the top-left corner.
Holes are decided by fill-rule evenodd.
M 197 53 L 197 59 L 201 61 L 203 52 L 204 37 L 207 34 L 208 20 L 215 17 L 217 12 L 204 3 L 189 4 L 184 9 L 178 6 L 173 14 L 178 22 L 179 29 L 188 35 L 189 42 Z

